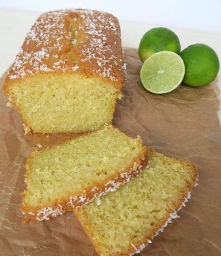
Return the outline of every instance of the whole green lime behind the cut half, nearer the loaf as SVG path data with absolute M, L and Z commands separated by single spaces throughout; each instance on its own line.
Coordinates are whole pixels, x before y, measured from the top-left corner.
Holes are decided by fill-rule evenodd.
M 139 44 L 139 57 L 142 62 L 159 51 L 180 53 L 180 40 L 168 28 L 153 28 L 147 31 Z

